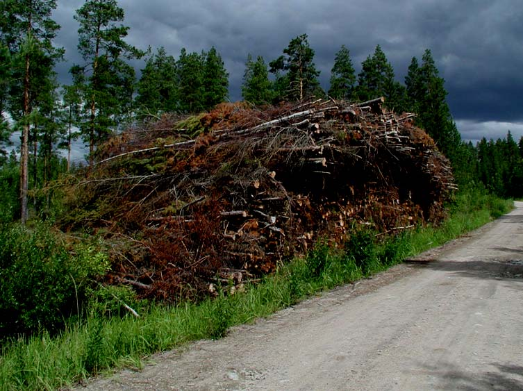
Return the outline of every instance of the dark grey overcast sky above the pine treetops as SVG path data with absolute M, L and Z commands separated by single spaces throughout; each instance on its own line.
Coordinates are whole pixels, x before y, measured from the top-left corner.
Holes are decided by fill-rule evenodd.
M 56 45 L 66 49 L 58 66 L 82 63 L 73 16 L 83 0 L 58 0 L 53 19 L 62 26 Z M 413 56 L 431 49 L 449 92 L 451 113 L 465 140 L 523 136 L 523 1 L 521 0 L 120 0 L 127 42 L 140 49 L 165 47 L 175 58 L 216 47 L 229 72 L 229 97 L 241 99 L 247 54 L 265 61 L 281 56 L 306 33 L 315 50 L 322 86 L 329 88 L 342 44 L 360 72 L 381 45 L 404 80 Z M 135 63 L 139 72 L 143 62 Z

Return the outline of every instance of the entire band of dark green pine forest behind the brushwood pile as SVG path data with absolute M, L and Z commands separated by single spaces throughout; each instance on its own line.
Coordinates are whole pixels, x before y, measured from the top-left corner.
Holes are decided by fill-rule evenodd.
M 55 8 L 56 0 L 0 3 L 0 168 L 8 163 L 13 168 L 16 157 L 8 159 L 3 143 L 22 130 L 17 173 L 22 221 L 31 207 L 29 190 L 47 183 L 57 167 L 71 167 L 78 135 L 89 144 L 92 164 L 97 145 L 127 124 L 164 113 L 199 113 L 229 99 L 229 73 L 215 47 L 181 49 L 178 58 L 163 47 L 149 49 L 136 81 L 135 60 L 144 52 L 126 42 L 128 27 L 117 0 L 87 0 L 76 11 L 82 61 L 70 69 L 72 83 L 59 86 L 55 67 L 64 51 L 53 46 L 59 28 L 51 17 Z M 249 54 L 242 98 L 263 105 L 324 96 L 314 58 L 306 34 L 290 40 L 282 56 L 268 65 L 262 56 Z M 416 124 L 451 159 L 458 180 L 481 181 L 502 195 L 523 192 L 523 140 L 516 144 L 508 133 L 506 140 L 481 140 L 477 146 L 463 142 L 430 50 L 420 60 L 412 58 L 400 83 L 380 45 L 357 76 L 351 53 L 342 45 L 331 68 L 329 96 L 360 101 L 383 96 L 395 112 L 417 114 Z M 57 146 L 67 148 L 67 165 L 58 162 Z

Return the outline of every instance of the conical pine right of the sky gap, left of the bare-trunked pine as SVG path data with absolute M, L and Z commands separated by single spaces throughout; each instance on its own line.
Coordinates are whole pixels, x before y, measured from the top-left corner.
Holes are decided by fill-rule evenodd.
M 244 101 L 257 106 L 272 101 L 272 83 L 269 80 L 267 64 L 262 56 L 258 56 L 256 61 L 252 60 L 250 54 L 247 56 L 243 74 L 242 97 Z

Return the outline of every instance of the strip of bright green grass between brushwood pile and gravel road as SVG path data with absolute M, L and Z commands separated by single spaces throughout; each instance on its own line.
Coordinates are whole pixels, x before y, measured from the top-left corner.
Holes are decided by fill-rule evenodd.
M 1 347 L 0 390 L 56 390 L 89 376 L 122 367 L 140 369 L 152 353 L 202 338 L 221 338 L 229 327 L 254 322 L 310 295 L 351 283 L 401 263 L 408 256 L 456 238 L 510 210 L 512 201 L 479 190 L 462 192 L 450 217 L 438 227 L 425 226 L 379 242 L 355 228 L 343 249 L 319 241 L 304 258 L 295 258 L 244 292 L 199 304 L 151 304 L 140 317 L 96 315 L 47 332 L 8 340 Z

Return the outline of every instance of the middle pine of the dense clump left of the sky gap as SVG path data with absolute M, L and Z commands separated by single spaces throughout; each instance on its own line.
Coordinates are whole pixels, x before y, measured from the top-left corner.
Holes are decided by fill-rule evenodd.
M 197 113 L 205 108 L 205 53 L 187 53 L 181 49 L 178 59 L 178 88 L 182 113 Z

